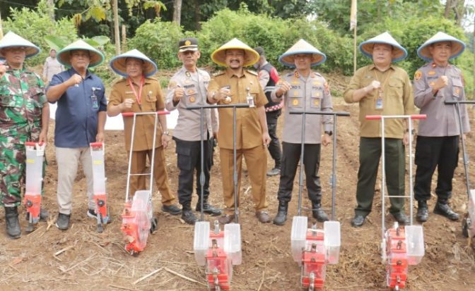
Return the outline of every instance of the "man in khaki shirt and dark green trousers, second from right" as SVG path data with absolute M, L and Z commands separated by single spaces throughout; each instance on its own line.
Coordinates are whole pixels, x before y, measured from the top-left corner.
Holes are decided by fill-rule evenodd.
M 377 168 L 381 156 L 381 122 L 366 120 L 368 115 L 401 116 L 414 114 L 414 95 L 411 80 L 406 71 L 394 66 L 392 61 L 406 58 L 404 47 L 389 33 L 373 37 L 360 44 L 360 51 L 373 64 L 356 71 L 344 92 L 347 103 L 360 105 L 360 169 L 356 188 L 355 217 L 353 227 L 360 227 L 371 212 Z M 409 143 L 409 134 L 414 134 L 402 119 L 385 120 L 386 185 L 389 196 L 404 196 L 406 154 L 404 145 Z M 382 186 L 384 187 L 384 185 Z M 401 224 L 409 223 L 404 213 L 404 199 L 390 198 L 389 213 Z M 382 209 L 386 211 L 386 209 Z

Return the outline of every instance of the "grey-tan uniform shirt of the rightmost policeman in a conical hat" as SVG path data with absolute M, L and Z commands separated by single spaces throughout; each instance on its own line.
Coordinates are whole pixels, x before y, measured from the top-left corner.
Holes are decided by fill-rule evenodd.
M 449 84 L 435 95 L 432 87 L 438 78 L 446 75 Z M 442 68 L 436 63 L 426 63 L 414 74 L 414 102 L 427 118 L 419 121 L 417 135 L 426 137 L 450 137 L 460 135 L 459 115 L 456 105 L 446 105 L 445 100 L 465 100 L 462 71 L 450 64 Z M 462 128 L 470 131 L 466 104 L 460 104 Z

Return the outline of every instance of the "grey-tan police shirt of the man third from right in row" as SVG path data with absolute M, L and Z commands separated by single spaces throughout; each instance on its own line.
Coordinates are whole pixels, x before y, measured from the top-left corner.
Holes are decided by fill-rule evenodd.
M 276 91 L 283 81 L 291 84 L 291 89 L 276 97 Z M 332 111 L 332 95 L 327 80 L 319 73 L 312 72 L 308 78 L 301 76 L 297 70 L 284 75 L 278 81 L 276 89 L 271 92 L 272 99 L 284 99 L 286 111 L 283 120 L 283 142 L 300 144 L 302 142 L 302 115 L 290 114 L 291 111 Z M 332 130 L 332 116 L 306 115 L 305 116 L 305 144 L 319 144 L 322 142 L 322 126 L 325 131 Z

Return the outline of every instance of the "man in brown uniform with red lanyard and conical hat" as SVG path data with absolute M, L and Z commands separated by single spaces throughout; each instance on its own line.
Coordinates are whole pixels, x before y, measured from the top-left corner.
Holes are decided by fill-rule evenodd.
M 117 116 L 124 112 L 156 112 L 165 109 L 165 101 L 160 88 L 160 82 L 150 78 L 157 66 L 153 61 L 134 49 L 120 56 L 112 58 L 110 66 L 115 73 L 127 77 L 119 80 L 112 87 L 107 115 Z M 131 154 L 131 173 L 140 174 L 146 171 L 146 159 L 152 159 L 154 115 L 136 116 L 134 132 L 134 149 L 130 149 L 133 118 L 124 117 L 124 138 L 127 154 Z M 168 146 L 167 119 L 164 115 L 158 116 L 160 126 L 157 125 L 155 161 L 153 161 L 153 176 L 158 190 L 162 194 L 162 211 L 172 215 L 182 212 L 175 204 L 175 197 L 168 185 L 168 173 L 165 168 L 165 148 Z M 132 176 L 130 191 L 146 189 L 144 175 Z

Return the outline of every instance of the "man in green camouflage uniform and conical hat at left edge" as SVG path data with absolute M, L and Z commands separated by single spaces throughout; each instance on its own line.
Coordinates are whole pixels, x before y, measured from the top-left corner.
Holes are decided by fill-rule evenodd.
M 0 205 L 8 237 L 21 237 L 18 209 L 25 182 L 25 142 L 46 142 L 49 104 L 39 75 L 23 66 L 40 48 L 13 32 L 0 40 Z M 43 165 L 43 172 L 45 164 Z M 42 211 L 40 218 L 46 218 Z

